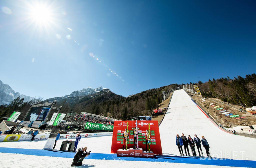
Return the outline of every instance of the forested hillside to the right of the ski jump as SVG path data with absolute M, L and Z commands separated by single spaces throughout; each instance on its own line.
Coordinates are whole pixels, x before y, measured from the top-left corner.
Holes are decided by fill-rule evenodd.
M 256 105 L 256 74 L 212 79 L 207 82 L 198 82 L 203 96 L 221 99 L 222 101 L 244 107 Z

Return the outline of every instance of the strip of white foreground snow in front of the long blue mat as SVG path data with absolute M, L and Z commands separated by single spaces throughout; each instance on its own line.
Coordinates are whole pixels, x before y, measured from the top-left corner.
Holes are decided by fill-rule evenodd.
M 23 155 L 23 154 L 9 154 L 0 153 L 1 166 L 3 168 L 70 168 L 73 159 L 71 158 L 61 158 L 61 157 L 49 157 L 49 156 L 34 156 L 34 155 Z M 3 159 L 2 159 L 3 158 Z M 82 166 L 75 167 L 112 167 L 112 168 L 130 168 L 130 167 L 170 167 L 170 168 L 230 168 L 229 166 L 213 166 L 213 165 L 200 165 L 200 164 L 184 164 L 184 163 L 165 163 L 165 162 L 144 162 L 144 161 L 119 161 L 119 160 L 95 160 L 86 159 L 83 160 Z

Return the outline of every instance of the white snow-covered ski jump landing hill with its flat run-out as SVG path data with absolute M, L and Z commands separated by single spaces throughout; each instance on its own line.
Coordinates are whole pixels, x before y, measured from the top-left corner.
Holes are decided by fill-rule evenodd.
M 182 133 L 188 138 L 204 135 L 213 157 L 256 160 L 256 139 L 228 133 L 218 127 L 191 99 L 185 90 L 174 91 L 165 117 L 159 126 L 163 154 L 179 154 L 175 136 Z M 196 153 L 198 155 L 197 148 Z M 202 147 L 206 156 L 205 149 Z M 183 148 L 184 152 L 184 148 Z M 191 150 L 189 148 L 191 154 Z M 184 152 L 185 154 L 185 152 Z

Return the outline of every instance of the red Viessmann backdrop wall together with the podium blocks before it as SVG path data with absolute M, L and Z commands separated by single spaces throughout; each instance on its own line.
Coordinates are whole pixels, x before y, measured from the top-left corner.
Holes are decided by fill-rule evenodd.
M 123 149 L 123 133 L 127 128 L 128 122 L 128 132 L 129 138 L 127 139 L 127 151 Z M 112 137 L 111 153 L 117 153 L 120 157 L 154 157 L 154 154 L 162 155 L 161 139 L 158 128 L 158 121 L 137 121 L 138 133 L 137 140 L 139 144 L 139 149 L 133 149 L 134 145 L 134 135 L 133 129 L 136 127 L 136 121 L 115 121 Z M 148 130 L 148 125 L 150 124 L 150 152 L 146 152 L 146 130 Z M 124 144 L 125 148 L 125 144 Z M 147 145 L 148 149 L 148 145 Z

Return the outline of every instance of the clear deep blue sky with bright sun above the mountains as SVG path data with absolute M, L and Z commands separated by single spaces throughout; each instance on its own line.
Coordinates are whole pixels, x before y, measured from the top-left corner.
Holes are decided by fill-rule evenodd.
M 0 80 L 27 96 L 99 86 L 128 96 L 255 73 L 255 1 L 8 0 L 0 8 Z M 38 8 L 46 10 L 38 16 Z

